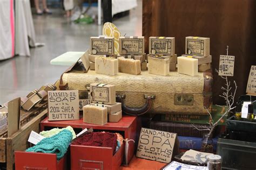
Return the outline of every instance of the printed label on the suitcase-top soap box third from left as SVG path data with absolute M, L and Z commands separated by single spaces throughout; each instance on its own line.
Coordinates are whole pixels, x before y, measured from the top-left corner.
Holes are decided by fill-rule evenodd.
M 171 39 L 151 39 L 151 54 L 171 54 Z

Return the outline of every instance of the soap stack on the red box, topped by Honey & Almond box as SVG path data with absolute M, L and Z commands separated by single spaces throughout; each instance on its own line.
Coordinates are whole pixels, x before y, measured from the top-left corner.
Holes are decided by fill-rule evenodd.
M 90 84 L 92 103 L 83 108 L 84 122 L 104 125 L 122 118 L 122 103 L 116 102 L 116 88 L 111 84 Z

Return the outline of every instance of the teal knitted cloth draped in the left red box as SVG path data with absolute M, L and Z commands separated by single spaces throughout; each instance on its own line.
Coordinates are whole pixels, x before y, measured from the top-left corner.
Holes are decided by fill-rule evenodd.
M 66 151 L 68 151 L 72 137 L 72 133 L 64 129 L 50 138 L 44 138 L 39 141 L 37 145 L 28 148 L 26 152 L 55 153 L 57 159 L 61 159 Z

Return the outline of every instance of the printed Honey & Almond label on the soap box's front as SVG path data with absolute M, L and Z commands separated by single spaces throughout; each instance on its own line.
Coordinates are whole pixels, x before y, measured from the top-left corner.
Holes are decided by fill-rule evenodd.
M 92 86 L 92 100 L 109 103 L 109 88 Z

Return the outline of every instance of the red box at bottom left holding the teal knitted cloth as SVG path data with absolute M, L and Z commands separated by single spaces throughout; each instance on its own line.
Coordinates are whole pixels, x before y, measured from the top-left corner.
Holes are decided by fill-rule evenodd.
M 67 154 L 57 160 L 56 154 L 15 152 L 15 169 L 18 170 L 68 170 Z

